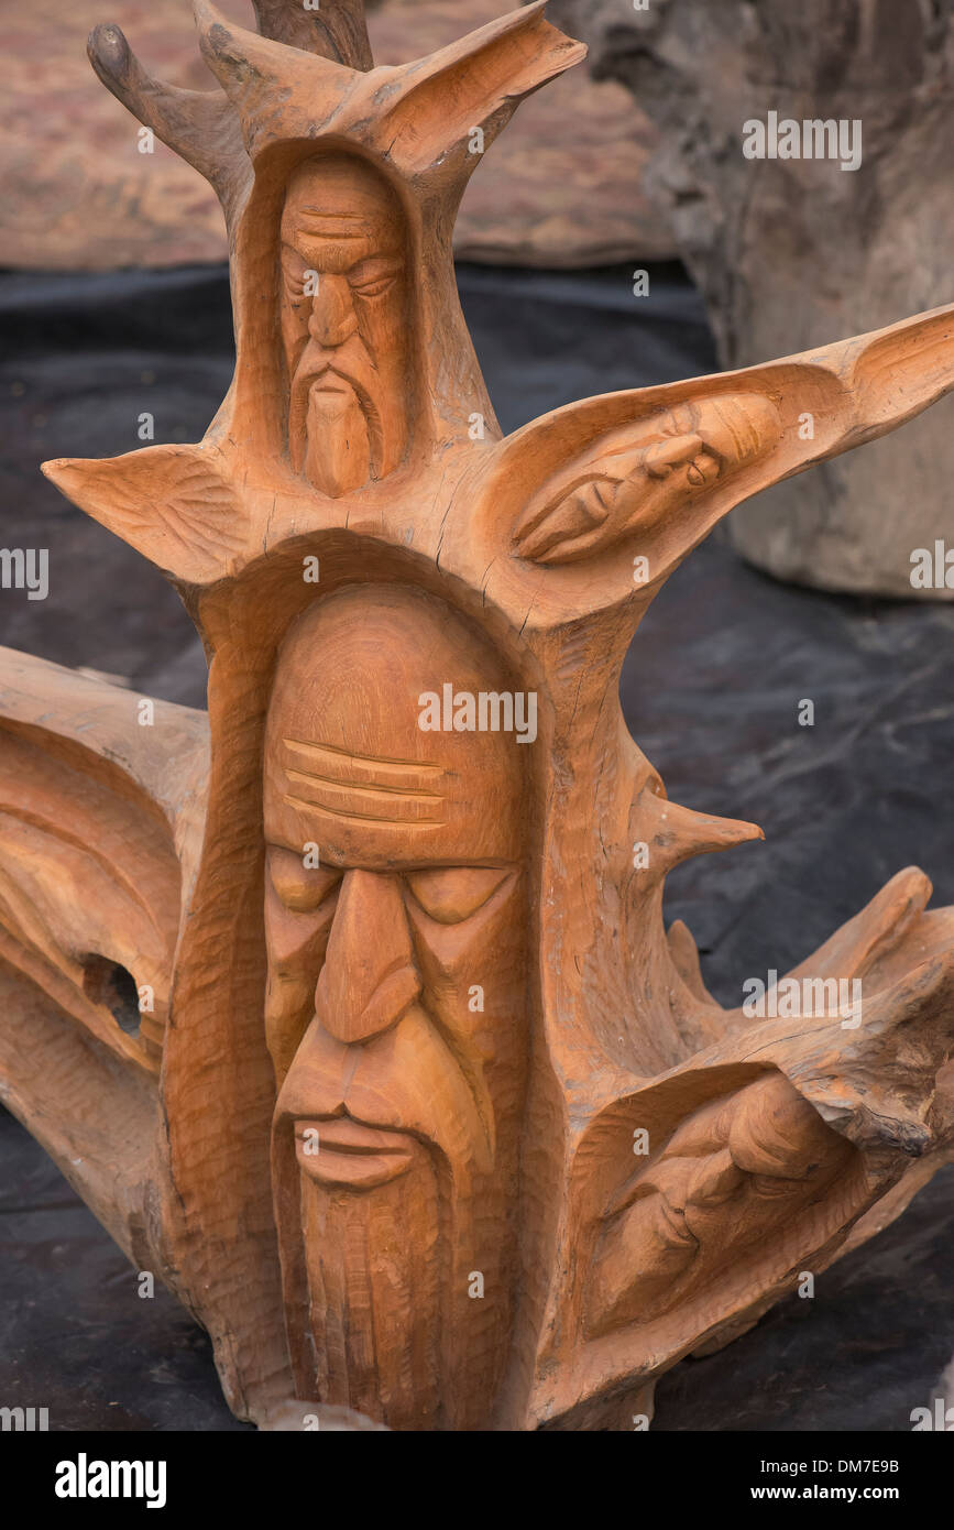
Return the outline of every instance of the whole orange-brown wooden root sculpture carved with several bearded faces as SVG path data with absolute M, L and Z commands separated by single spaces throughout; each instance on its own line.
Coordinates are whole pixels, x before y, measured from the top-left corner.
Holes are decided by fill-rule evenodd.
M 954 1152 L 954 910 L 902 871 L 723 1010 L 664 877 L 760 829 L 618 701 L 717 520 L 954 387 L 954 306 L 501 439 L 454 210 L 581 47 L 532 5 L 373 69 L 359 0 L 255 11 L 199 0 L 209 93 L 90 40 L 222 197 L 237 366 L 199 445 L 44 471 L 177 586 L 209 707 L 5 655 L 3 1099 L 240 1417 L 628 1429 Z

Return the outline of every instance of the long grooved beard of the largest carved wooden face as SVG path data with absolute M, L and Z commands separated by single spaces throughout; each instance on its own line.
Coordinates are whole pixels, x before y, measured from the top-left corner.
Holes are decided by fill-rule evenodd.
M 419 1144 L 387 1184 L 320 1184 L 284 1118 L 275 1183 L 298 1397 L 391 1429 L 486 1427 L 508 1360 L 515 1177 L 454 1177 Z M 483 1296 L 469 1294 L 475 1270 Z

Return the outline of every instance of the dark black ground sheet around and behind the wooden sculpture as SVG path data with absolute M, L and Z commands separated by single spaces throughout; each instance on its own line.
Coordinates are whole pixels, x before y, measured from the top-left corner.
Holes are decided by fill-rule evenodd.
M 465 268 L 465 312 L 505 430 L 587 393 L 714 370 L 702 304 L 676 268 L 634 300 L 628 271 Z M 40 476 L 52 456 L 197 441 L 231 375 L 219 268 L 0 275 L 0 542 L 46 546 L 50 594 L 0 591 L 0 643 L 203 702 L 176 595 Z M 838 338 L 838 337 L 832 337 Z M 954 901 L 954 609 L 786 588 L 717 537 L 656 601 L 622 679 L 633 734 L 688 806 L 752 819 L 764 845 L 680 868 L 683 918 L 726 1004 L 819 946 L 902 866 Z M 798 727 L 798 704 L 815 725 Z M 722 1354 L 659 1386 L 656 1426 L 910 1429 L 954 1353 L 954 1167 L 813 1300 L 783 1302 Z M 0 1112 L 0 1405 L 54 1429 L 240 1429 L 211 1351 L 135 1274 L 32 1138 Z

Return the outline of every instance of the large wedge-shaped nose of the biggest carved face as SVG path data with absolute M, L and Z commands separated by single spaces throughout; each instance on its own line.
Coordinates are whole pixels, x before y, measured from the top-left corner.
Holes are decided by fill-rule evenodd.
M 318 1024 L 339 1042 L 365 1042 L 394 1025 L 419 993 L 398 878 L 346 872 L 315 990 Z

